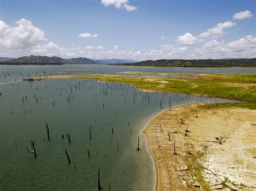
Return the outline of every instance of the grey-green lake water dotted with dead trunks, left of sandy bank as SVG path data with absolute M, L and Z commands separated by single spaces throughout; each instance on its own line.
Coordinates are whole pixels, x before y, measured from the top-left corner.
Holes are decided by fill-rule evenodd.
M 140 134 L 146 123 L 157 113 L 180 104 L 228 101 L 146 93 L 128 84 L 90 79 L 14 82 L 26 76 L 79 67 L 89 67 L 91 70 L 83 72 L 95 74 L 131 69 L 0 66 L 0 82 L 4 82 L 0 86 L 0 190 L 96 190 L 98 168 L 104 189 L 111 184 L 111 190 L 153 190 L 154 162 L 147 141 Z M 45 122 L 49 124 L 50 141 Z M 70 133 L 72 142 L 62 139 L 62 133 Z M 138 137 L 140 151 L 136 150 Z M 30 149 L 31 139 L 36 139 L 37 158 L 25 148 Z

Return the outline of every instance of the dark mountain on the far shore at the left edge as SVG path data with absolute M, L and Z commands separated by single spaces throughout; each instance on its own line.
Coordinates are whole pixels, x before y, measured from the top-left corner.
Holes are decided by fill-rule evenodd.
M 23 56 L 13 60 L 2 61 L 0 64 L 5 65 L 64 65 L 72 63 L 69 60 L 59 58 L 57 56 Z

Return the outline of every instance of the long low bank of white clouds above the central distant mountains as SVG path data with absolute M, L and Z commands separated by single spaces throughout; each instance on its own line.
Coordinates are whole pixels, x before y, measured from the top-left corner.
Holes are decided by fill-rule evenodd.
M 46 45 L 33 47 L 30 51 L 32 54 L 46 56 L 60 56 L 62 58 L 86 57 L 93 59 L 134 59 L 134 60 L 158 60 L 184 58 L 187 47 L 175 47 L 169 44 L 163 44 L 157 49 L 148 52 L 142 51 L 120 51 L 117 45 L 113 49 L 105 50 L 102 46 L 85 46 L 85 47 L 59 47 L 55 43 L 49 42 Z

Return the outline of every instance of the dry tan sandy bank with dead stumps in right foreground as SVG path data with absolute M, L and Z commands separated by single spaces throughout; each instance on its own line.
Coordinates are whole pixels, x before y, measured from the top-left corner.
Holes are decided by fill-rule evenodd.
M 255 128 L 252 109 L 190 104 L 163 112 L 144 130 L 157 190 L 256 189 Z

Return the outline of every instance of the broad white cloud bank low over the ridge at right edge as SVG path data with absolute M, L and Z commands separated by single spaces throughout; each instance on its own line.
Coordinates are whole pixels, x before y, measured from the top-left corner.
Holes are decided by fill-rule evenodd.
M 256 37 L 246 36 L 229 43 L 215 39 L 197 48 L 192 54 L 194 58 L 254 58 L 256 52 Z

